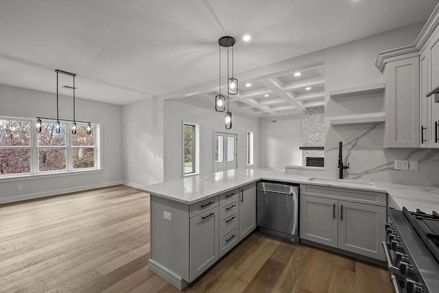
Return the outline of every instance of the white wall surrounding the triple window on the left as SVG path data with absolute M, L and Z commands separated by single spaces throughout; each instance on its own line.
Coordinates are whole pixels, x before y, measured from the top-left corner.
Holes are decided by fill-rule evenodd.
M 72 119 L 72 97 L 60 96 L 60 118 Z M 0 84 L 0 115 L 56 117 L 56 95 Z M 76 119 L 102 124 L 102 172 L 51 178 L 0 179 L 0 202 L 51 196 L 122 183 L 121 106 L 76 99 Z M 21 190 L 16 190 L 21 185 Z

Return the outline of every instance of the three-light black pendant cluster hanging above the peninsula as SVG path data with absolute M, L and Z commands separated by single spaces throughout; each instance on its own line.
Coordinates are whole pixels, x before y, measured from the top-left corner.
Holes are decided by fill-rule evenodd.
M 233 45 L 235 45 L 235 38 L 231 36 L 223 36 L 218 40 L 219 44 L 219 95 L 215 97 L 215 110 L 217 112 L 227 112 L 224 116 L 226 129 L 232 128 L 232 113 L 228 109 L 228 95 L 236 95 L 238 93 L 238 80 L 233 77 Z M 221 94 L 221 47 L 227 48 L 227 100 L 224 95 Z M 232 76 L 229 75 L 229 48 L 232 47 Z

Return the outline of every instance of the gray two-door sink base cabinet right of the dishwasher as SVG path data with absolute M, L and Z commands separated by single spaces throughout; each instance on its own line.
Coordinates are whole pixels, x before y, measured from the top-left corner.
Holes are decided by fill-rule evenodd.
M 387 194 L 300 185 L 300 239 L 384 261 Z

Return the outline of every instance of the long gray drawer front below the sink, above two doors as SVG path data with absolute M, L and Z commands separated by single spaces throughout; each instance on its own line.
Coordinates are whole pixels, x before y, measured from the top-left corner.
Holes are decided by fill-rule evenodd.
M 333 198 L 335 200 L 362 202 L 365 204 L 379 205 L 381 207 L 387 206 L 387 194 L 375 191 L 302 184 L 300 185 L 300 194 Z

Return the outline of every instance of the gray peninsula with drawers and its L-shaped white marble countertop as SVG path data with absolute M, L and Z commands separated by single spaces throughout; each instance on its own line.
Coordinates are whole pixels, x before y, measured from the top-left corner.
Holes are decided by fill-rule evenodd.
M 258 180 L 364 191 L 380 200 L 387 194 L 385 205 L 395 209 L 403 205 L 416 209 L 421 202 L 426 212 L 439 210 L 439 189 L 435 187 L 310 178 L 264 169 L 190 176 L 144 188 L 151 200 L 150 270 L 180 290 L 199 277 L 256 228 L 256 206 L 252 200 Z M 250 207 L 253 204 L 253 214 L 248 207 L 241 213 L 239 209 L 248 202 Z M 245 224 L 244 235 L 241 222 Z

